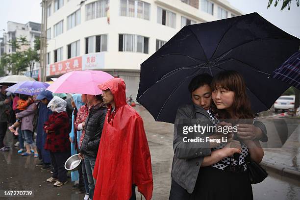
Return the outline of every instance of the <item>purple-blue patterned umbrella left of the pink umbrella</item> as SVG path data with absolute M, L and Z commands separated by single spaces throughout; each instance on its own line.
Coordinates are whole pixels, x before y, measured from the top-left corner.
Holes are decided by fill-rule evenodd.
M 39 81 L 23 81 L 7 88 L 6 91 L 16 94 L 33 96 L 40 94 L 40 92 L 49 87 L 49 85 L 50 84 L 48 83 Z

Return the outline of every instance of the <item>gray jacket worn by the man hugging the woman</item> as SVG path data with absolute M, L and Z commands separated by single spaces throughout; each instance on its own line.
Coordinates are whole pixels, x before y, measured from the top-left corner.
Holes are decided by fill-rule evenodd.
M 176 183 L 186 189 L 188 193 L 192 193 L 196 185 L 201 163 L 206 155 L 210 155 L 211 151 L 208 142 L 183 142 L 183 137 L 187 135 L 182 134 L 182 126 L 189 124 L 212 126 L 213 122 L 209 114 L 202 107 L 194 103 L 182 105 L 177 109 L 174 124 L 174 157 L 171 177 Z M 263 123 L 256 121 L 254 125 L 266 134 L 267 130 Z M 189 138 L 203 137 L 205 139 L 205 137 L 209 137 L 212 134 L 214 133 L 204 132 L 202 135 L 194 133 L 193 137 Z

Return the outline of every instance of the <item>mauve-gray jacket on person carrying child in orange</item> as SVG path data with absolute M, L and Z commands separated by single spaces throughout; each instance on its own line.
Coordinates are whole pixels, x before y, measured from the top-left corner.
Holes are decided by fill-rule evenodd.
M 21 119 L 21 130 L 30 130 L 33 131 L 33 118 L 37 111 L 37 106 L 35 103 L 30 104 L 26 110 L 16 113 L 16 118 Z

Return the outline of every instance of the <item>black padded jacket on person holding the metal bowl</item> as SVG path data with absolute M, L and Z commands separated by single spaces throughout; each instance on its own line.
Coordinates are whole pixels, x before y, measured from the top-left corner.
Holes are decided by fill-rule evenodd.
M 80 148 L 83 155 L 97 157 L 106 111 L 107 108 L 103 103 L 90 109 L 85 120 L 85 135 Z

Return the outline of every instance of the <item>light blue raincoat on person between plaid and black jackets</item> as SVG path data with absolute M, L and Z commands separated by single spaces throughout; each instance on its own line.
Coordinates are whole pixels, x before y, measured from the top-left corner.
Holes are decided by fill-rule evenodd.
M 77 110 L 82 106 L 84 105 L 84 103 L 82 102 L 81 100 L 81 95 L 80 94 L 75 94 L 75 95 L 72 95 L 72 98 L 73 98 L 73 101 L 75 102 L 75 106 L 77 108 Z M 74 154 L 77 154 L 77 150 L 76 150 L 76 146 L 77 143 L 79 142 L 79 139 L 80 139 L 80 136 L 81 136 L 81 131 L 77 131 L 77 137 L 75 139 L 75 134 L 74 134 L 74 111 L 73 111 L 73 114 L 72 114 L 72 129 L 71 129 L 71 132 L 69 134 L 69 136 L 71 137 L 73 143 L 71 143 L 71 155 L 74 155 Z M 75 143 L 75 141 L 77 141 L 77 143 Z M 71 172 L 71 181 L 76 181 L 79 179 L 79 174 L 77 171 L 75 172 Z

